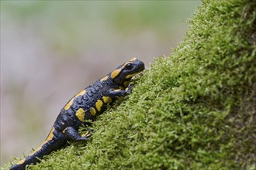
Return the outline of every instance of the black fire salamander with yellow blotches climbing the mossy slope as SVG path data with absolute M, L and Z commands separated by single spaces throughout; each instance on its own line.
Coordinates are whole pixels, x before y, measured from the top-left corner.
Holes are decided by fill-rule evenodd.
M 81 124 L 85 124 L 86 120 L 94 121 L 116 97 L 131 93 L 131 78 L 144 68 L 143 62 L 133 58 L 77 93 L 61 109 L 53 128 L 40 147 L 10 169 L 21 170 L 25 169 L 26 165 L 40 162 L 44 155 L 61 148 L 67 140 L 86 141 L 92 134 L 90 131 L 84 135 L 78 134 Z

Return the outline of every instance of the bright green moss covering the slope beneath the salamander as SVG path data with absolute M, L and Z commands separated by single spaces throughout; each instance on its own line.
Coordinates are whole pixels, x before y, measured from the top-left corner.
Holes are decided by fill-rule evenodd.
M 128 97 L 29 169 L 254 169 L 256 2 L 204 1 Z M 85 128 L 81 128 L 85 131 Z

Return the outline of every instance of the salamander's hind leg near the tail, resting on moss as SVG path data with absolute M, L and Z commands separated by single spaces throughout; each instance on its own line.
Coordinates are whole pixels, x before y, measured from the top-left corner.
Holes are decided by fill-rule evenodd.
M 68 138 L 71 138 L 74 141 L 86 141 L 89 137 L 92 136 L 91 134 L 92 129 L 87 131 L 85 135 L 80 135 L 77 130 L 73 127 L 67 127 L 64 129 L 63 133 L 67 135 Z

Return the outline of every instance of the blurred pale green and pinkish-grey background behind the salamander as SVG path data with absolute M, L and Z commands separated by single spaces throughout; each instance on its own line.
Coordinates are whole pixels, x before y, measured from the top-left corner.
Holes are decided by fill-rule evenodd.
M 1 1 L 1 165 L 28 155 L 82 88 L 182 41 L 200 1 Z

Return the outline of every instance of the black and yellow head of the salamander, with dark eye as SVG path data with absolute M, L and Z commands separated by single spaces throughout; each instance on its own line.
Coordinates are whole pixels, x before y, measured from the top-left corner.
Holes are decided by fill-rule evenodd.
M 127 87 L 130 79 L 137 73 L 145 69 L 144 63 L 139 59 L 133 58 L 130 61 L 116 68 L 110 73 L 112 81 L 117 85 Z

